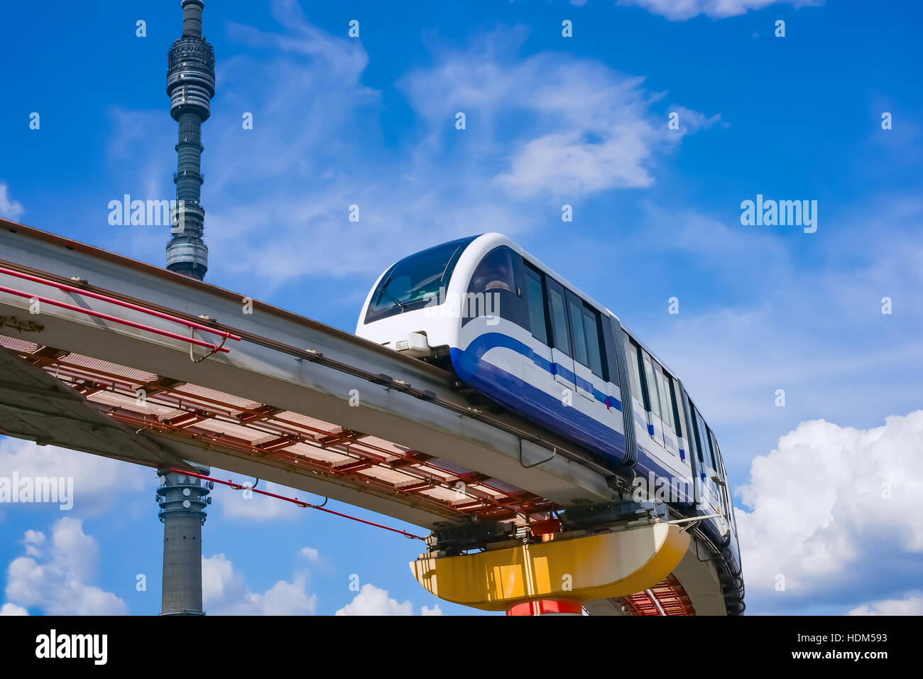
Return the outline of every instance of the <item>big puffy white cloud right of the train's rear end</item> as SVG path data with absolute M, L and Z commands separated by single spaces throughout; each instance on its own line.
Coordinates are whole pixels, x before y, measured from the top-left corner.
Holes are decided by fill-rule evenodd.
M 869 430 L 803 422 L 756 457 L 737 510 L 751 607 L 896 594 L 923 567 L 923 410 Z M 776 589 L 779 576 L 785 590 Z

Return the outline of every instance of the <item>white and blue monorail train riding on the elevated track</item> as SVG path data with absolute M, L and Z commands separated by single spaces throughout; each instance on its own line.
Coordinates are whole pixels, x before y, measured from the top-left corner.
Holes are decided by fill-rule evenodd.
M 356 334 L 454 370 L 510 413 L 629 470 L 652 496 L 668 488 L 675 514 L 710 516 L 701 531 L 742 597 L 721 451 L 683 383 L 614 313 L 509 238 L 461 238 L 393 264 Z

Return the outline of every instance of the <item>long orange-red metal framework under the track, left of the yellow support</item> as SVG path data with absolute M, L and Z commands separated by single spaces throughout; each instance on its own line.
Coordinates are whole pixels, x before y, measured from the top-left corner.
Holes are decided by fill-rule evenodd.
M 440 515 L 478 521 L 545 519 L 553 503 L 433 455 L 300 413 L 189 382 L 0 335 L 109 417 L 187 443 L 307 467 L 350 485 L 402 495 Z

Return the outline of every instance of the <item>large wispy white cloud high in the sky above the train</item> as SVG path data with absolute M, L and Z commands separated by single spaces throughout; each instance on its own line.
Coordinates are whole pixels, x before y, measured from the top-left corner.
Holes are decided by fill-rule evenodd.
M 436 132 L 462 112 L 467 127 L 453 134 L 463 135 L 459 146 L 473 158 L 456 162 L 479 175 L 493 172 L 491 186 L 511 199 L 576 200 L 650 187 L 656 157 L 681 138 L 651 111 L 663 93 L 645 91 L 643 79 L 592 59 L 546 52 L 521 58 L 515 50 L 524 38 L 521 30 L 491 33 L 402 80 L 429 124 L 425 148 L 448 145 L 451 137 Z M 705 119 L 683 110 L 688 130 Z

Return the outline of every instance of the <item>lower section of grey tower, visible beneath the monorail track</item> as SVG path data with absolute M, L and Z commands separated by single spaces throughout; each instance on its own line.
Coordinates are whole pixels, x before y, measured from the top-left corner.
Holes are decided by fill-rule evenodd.
M 209 467 L 196 466 L 208 474 Z M 206 497 L 214 484 L 168 469 L 159 472 L 157 502 L 163 522 L 161 615 L 204 615 L 202 609 L 202 525 Z

